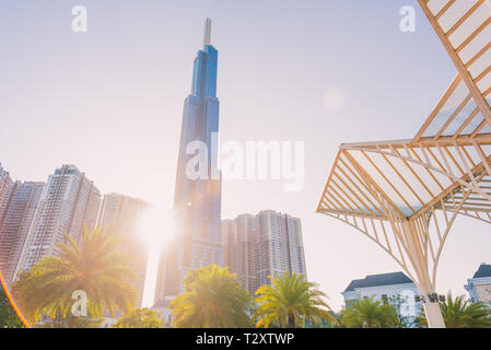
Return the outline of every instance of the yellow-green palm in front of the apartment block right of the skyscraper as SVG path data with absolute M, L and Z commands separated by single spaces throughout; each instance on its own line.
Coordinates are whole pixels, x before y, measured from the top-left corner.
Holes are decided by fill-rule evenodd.
M 271 285 L 261 285 L 257 291 L 256 327 L 279 326 L 282 328 L 305 327 L 307 322 L 319 324 L 332 323 L 334 316 L 327 311 L 327 298 L 317 289 L 317 283 L 307 282 L 300 273 L 282 277 L 269 276 Z

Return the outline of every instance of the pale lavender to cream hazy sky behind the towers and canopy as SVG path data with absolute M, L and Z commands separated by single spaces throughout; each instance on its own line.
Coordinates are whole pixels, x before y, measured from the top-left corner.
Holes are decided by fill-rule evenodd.
M 72 31 L 74 5 L 87 10 L 86 33 Z M 414 33 L 399 30 L 402 5 L 416 8 Z M 339 310 L 352 279 L 400 268 L 315 213 L 338 147 L 412 138 L 456 75 L 416 0 L 2 0 L 0 162 L 28 180 L 75 164 L 102 192 L 140 197 L 165 218 L 207 16 L 221 140 L 305 142 L 301 191 L 225 180 L 222 219 L 265 209 L 300 218 L 307 277 Z M 484 223 L 458 218 L 437 291 L 465 293 L 466 279 L 491 262 L 490 246 Z

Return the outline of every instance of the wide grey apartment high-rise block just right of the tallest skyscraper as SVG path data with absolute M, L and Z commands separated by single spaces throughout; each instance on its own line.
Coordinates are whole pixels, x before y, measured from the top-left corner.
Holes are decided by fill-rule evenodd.
M 284 271 L 306 277 L 301 220 L 272 210 L 222 221 L 225 265 L 252 294 L 268 276 Z

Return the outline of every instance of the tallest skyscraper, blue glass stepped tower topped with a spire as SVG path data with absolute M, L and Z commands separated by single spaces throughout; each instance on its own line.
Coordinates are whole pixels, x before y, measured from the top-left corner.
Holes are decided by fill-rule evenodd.
M 213 137 L 219 131 L 219 100 L 217 98 L 218 51 L 210 44 L 211 21 L 204 25 L 203 48 L 198 51 L 192 71 L 192 91 L 185 100 L 180 144 L 177 161 L 174 212 L 177 234 L 161 256 L 155 298 L 176 295 L 180 281 L 191 268 L 222 265 L 220 215 L 221 175 L 217 171 L 218 150 Z M 187 154 L 191 142 L 207 148 L 208 176 L 194 179 L 187 173 Z M 218 175 L 217 175 L 218 174 Z

